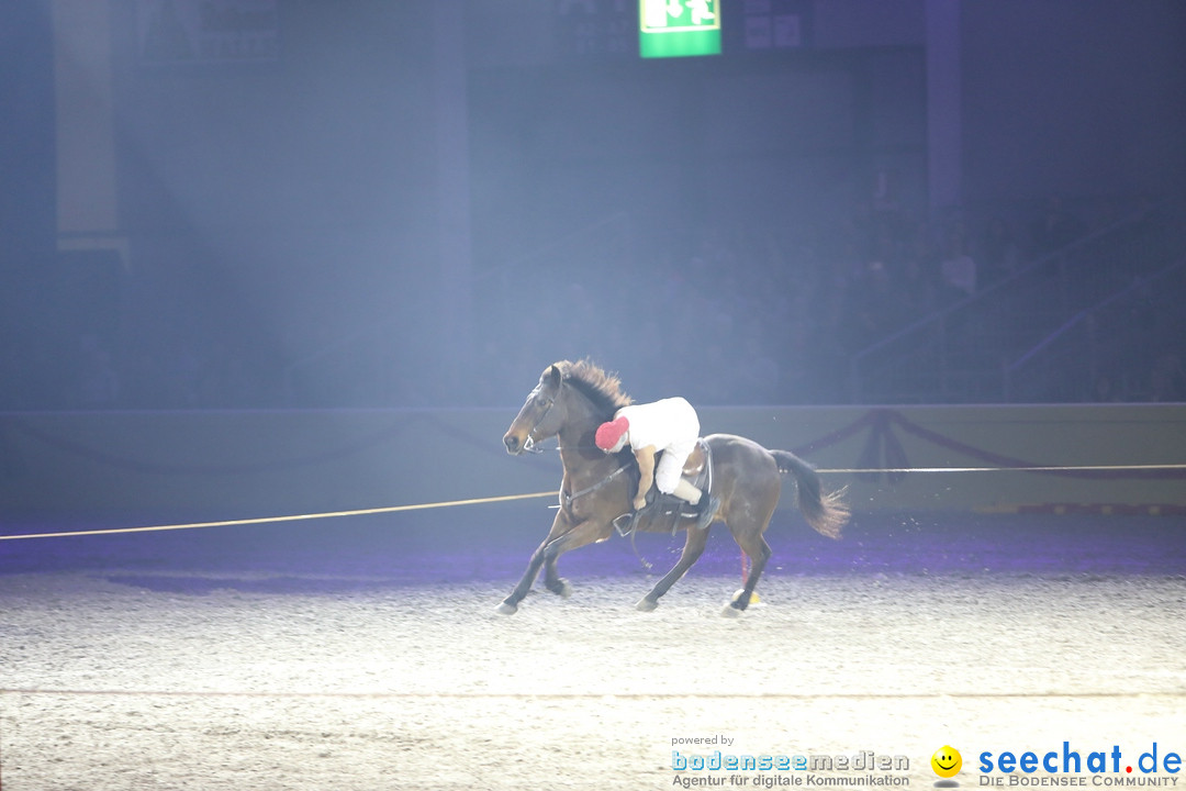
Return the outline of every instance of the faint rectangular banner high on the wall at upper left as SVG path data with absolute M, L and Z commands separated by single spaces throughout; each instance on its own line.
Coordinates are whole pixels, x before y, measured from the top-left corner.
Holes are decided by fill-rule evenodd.
M 279 0 L 138 0 L 146 64 L 250 63 L 280 55 Z

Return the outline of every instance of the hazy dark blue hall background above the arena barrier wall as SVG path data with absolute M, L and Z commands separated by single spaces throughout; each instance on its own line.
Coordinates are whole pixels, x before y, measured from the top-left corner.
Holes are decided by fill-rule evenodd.
M 586 355 L 640 400 L 1016 400 L 1002 359 L 1182 250 L 1174 0 L 723 0 L 723 55 L 664 62 L 620 0 L 278 0 L 278 50 L 248 60 L 149 46 L 166 0 L 107 5 L 119 219 L 97 230 L 126 244 L 69 254 L 55 141 L 84 121 L 57 104 L 51 5 L 0 7 L 2 408 L 508 406 Z M 774 17 L 796 46 L 747 40 Z M 1053 197 L 1059 245 L 1139 218 L 1075 251 L 1092 287 L 1001 339 L 988 384 L 927 378 L 967 358 L 946 346 L 900 382 L 860 368 L 962 298 L 954 240 L 981 291 L 1051 253 Z M 1054 272 L 987 320 L 1065 294 Z M 1091 313 L 1115 347 L 1052 349 L 1020 397 L 1092 400 L 1107 374 L 1107 400 L 1181 400 L 1180 280 Z M 976 310 L 945 344 L 978 337 Z M 1124 334 L 1134 312 L 1154 318 Z

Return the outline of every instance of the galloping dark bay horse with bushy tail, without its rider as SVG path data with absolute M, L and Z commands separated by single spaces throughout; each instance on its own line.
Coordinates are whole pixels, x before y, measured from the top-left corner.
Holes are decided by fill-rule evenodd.
M 598 426 L 611 420 L 614 412 L 629 403 L 630 397 L 621 391 L 618 378 L 588 361 L 562 361 L 549 365 L 540 376 L 540 383 L 528 394 L 527 402 L 503 436 L 503 444 L 508 453 L 517 455 L 551 436 L 559 439 L 565 470 L 560 484 L 560 510 L 548 536 L 531 554 L 523 579 L 499 605 L 499 612 L 510 614 L 518 610 L 541 567 L 547 588 L 567 597 L 570 587 L 559 576 L 556 560 L 566 551 L 610 538 L 614 519 L 632 510 L 631 499 L 638 484 L 633 453 L 627 447 L 619 453 L 606 454 L 593 442 Z M 770 559 L 770 544 L 763 534 L 778 505 L 780 473 L 793 476 L 799 510 L 820 534 L 839 538 L 840 529 L 848 519 L 848 509 L 841 500 L 841 492 L 822 495 L 820 477 L 792 453 L 767 451 L 752 440 L 733 434 L 712 434 L 706 441 L 714 465 L 712 492 L 721 500 L 715 521 L 725 522 L 753 563 L 745 588 L 725 608 L 726 614 L 737 614 L 750 606 L 754 586 Z M 667 576 L 638 602 L 639 610 L 655 610 L 659 597 L 704 551 L 712 528 L 700 530 L 695 523 L 694 516 L 680 518 L 677 527 L 687 532 L 683 554 Z M 644 512 L 637 529 L 667 531 L 672 529 L 672 523 L 670 518 L 655 519 Z

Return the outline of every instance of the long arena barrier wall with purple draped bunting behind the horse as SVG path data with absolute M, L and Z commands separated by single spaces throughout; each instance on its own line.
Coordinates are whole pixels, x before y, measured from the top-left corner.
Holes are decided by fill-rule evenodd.
M 255 518 L 555 491 L 555 451 L 503 449 L 514 415 L 6 413 L 0 519 Z M 824 472 L 856 511 L 1186 513 L 1186 471 L 1130 468 L 1186 463 L 1186 404 L 703 408 L 701 419 L 706 433 L 791 449 L 824 471 L 994 468 Z M 995 471 L 1034 465 L 1072 468 Z M 1102 466 L 1124 468 L 1082 468 Z

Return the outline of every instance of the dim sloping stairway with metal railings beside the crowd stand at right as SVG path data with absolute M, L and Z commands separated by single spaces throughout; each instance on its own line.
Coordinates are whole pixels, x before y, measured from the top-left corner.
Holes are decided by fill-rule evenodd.
M 1131 212 L 855 352 L 850 402 L 1010 400 L 1018 370 L 1057 338 L 1149 273 L 1175 270 L 1166 261 L 1182 240 L 1166 218 L 1181 212 L 1179 199 Z

